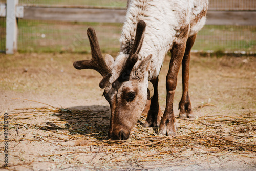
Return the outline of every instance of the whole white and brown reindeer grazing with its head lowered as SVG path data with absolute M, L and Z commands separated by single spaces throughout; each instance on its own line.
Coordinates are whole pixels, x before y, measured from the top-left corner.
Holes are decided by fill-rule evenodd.
M 188 95 L 190 50 L 205 23 L 207 8 L 208 0 L 129 0 L 120 53 L 115 60 L 110 55 L 102 57 L 95 30 L 87 30 L 92 59 L 76 61 L 74 67 L 94 69 L 102 75 L 99 86 L 111 108 L 108 135 L 112 140 L 129 138 L 146 104 L 149 110 L 144 127 L 159 127 L 162 135 L 176 135 L 173 101 L 181 65 L 179 118 L 194 118 Z M 168 51 L 172 57 L 162 113 L 158 76 Z

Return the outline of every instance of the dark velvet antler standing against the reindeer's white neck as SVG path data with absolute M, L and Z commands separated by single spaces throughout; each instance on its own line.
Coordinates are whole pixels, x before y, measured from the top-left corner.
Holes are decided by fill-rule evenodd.
M 130 73 L 135 63 L 138 61 L 138 55 L 144 39 L 145 28 L 146 28 L 146 23 L 143 20 L 139 20 L 139 22 L 137 23 L 136 36 L 135 36 L 133 47 L 131 49 L 131 53 L 126 60 L 125 65 L 122 68 L 119 77 L 112 83 L 113 88 L 117 87 L 118 82 L 121 83 L 129 80 Z

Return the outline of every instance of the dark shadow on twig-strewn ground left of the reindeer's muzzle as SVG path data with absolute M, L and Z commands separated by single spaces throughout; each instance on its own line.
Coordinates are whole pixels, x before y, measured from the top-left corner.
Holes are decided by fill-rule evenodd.
M 43 129 L 69 131 L 73 135 L 90 135 L 97 140 L 108 138 L 109 106 L 92 105 L 60 108 L 53 115 L 59 117 L 58 121 L 62 121 L 62 126 L 60 127 L 54 122 L 47 122 L 48 126 Z

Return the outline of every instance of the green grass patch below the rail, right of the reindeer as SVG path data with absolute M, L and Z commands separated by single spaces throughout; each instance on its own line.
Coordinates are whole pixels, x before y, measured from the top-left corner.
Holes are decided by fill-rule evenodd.
M 193 49 L 256 52 L 256 26 L 206 25 L 198 33 Z

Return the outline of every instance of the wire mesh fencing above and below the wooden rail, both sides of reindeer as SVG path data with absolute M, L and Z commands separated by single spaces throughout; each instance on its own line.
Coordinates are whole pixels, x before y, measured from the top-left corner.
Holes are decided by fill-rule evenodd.
M 0 0 L 0 3 L 6 1 Z M 22 6 L 108 6 L 126 7 L 127 0 L 19 0 Z M 209 0 L 212 11 L 255 11 L 254 0 Z M 89 52 L 86 30 L 94 27 L 103 52 L 119 51 L 122 24 L 18 21 L 20 52 Z M 5 18 L 0 18 L 0 50 L 5 49 Z M 206 25 L 198 33 L 194 51 L 256 52 L 256 26 Z

